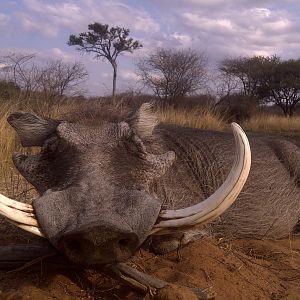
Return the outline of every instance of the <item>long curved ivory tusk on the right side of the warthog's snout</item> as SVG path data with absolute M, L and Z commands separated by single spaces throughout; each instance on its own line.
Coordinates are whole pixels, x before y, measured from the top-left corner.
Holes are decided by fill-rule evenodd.
M 233 166 L 225 182 L 203 202 L 183 209 L 161 211 L 159 217 L 168 220 L 155 224 L 150 234 L 161 234 L 160 231 L 168 231 L 167 228 L 170 227 L 207 223 L 220 216 L 236 200 L 249 175 L 251 150 L 242 128 L 236 123 L 232 123 L 231 127 L 237 150 Z

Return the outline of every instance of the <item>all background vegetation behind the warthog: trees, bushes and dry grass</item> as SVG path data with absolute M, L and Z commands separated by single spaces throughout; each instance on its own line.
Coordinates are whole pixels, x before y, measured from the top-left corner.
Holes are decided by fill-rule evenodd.
M 118 51 L 132 52 L 141 47 L 129 38 L 128 29 L 109 29 L 108 25 L 98 23 L 91 26 L 89 30 L 102 43 L 100 50 L 106 55 L 109 53 L 104 41 L 119 41 L 121 33 L 128 43 L 114 44 L 119 45 Z M 73 35 L 69 45 L 86 46 Z M 94 50 L 99 57 L 104 55 L 98 48 Z M 116 59 L 117 55 L 110 61 L 115 68 Z M 16 175 L 11 162 L 12 153 L 36 151 L 22 148 L 6 121 L 10 113 L 18 110 L 63 118 L 74 111 L 104 112 L 112 106 L 129 111 L 151 101 L 161 122 L 223 131 L 229 130 L 230 122 L 235 121 L 249 132 L 279 134 L 300 141 L 300 60 L 285 61 L 277 56 L 224 59 L 211 76 L 203 52 L 156 49 L 137 63 L 137 75 L 151 95 L 116 94 L 114 68 L 112 96 L 98 98 L 81 96 L 81 85 L 88 74 L 80 63 L 53 60 L 39 65 L 34 54 L 14 53 L 2 57 L 1 62 L 0 183 L 11 182 L 6 183 L 6 189 L 12 191 L 12 196 L 20 192 L 21 186 L 20 175 Z

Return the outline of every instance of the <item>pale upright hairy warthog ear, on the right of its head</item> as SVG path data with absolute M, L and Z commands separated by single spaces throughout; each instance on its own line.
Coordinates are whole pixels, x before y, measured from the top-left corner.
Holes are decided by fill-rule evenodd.
M 151 136 L 154 127 L 158 124 L 158 119 L 153 112 L 153 104 L 143 103 L 130 118 L 129 124 L 134 132 L 141 138 Z

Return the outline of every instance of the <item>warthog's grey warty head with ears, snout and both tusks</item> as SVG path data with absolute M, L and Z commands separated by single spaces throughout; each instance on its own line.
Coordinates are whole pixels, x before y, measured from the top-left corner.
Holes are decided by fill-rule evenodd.
M 161 201 L 150 194 L 149 185 L 170 168 L 175 154 L 148 151 L 143 140 L 156 125 L 150 110 L 144 104 L 125 121 L 96 127 L 24 112 L 11 114 L 8 122 L 22 145 L 41 147 L 36 155 L 13 156 L 17 169 L 40 197 L 33 200 L 32 207 L 1 196 L 5 215 L 19 227 L 45 236 L 70 260 L 85 266 L 125 261 L 152 232 L 218 216 L 234 201 L 247 178 L 250 158 L 244 153 L 245 145 L 239 141 L 240 152 L 244 152 L 238 155 L 223 190 L 221 187 L 212 199 L 161 212 Z M 159 214 L 168 220 L 155 225 Z

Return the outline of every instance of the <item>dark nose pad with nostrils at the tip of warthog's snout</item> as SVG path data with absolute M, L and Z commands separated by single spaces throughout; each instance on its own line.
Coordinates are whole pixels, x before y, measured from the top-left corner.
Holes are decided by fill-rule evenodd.
M 89 224 L 58 241 L 58 247 L 69 259 L 87 266 L 125 261 L 138 246 L 137 234 L 124 228 L 124 224 L 109 222 Z

